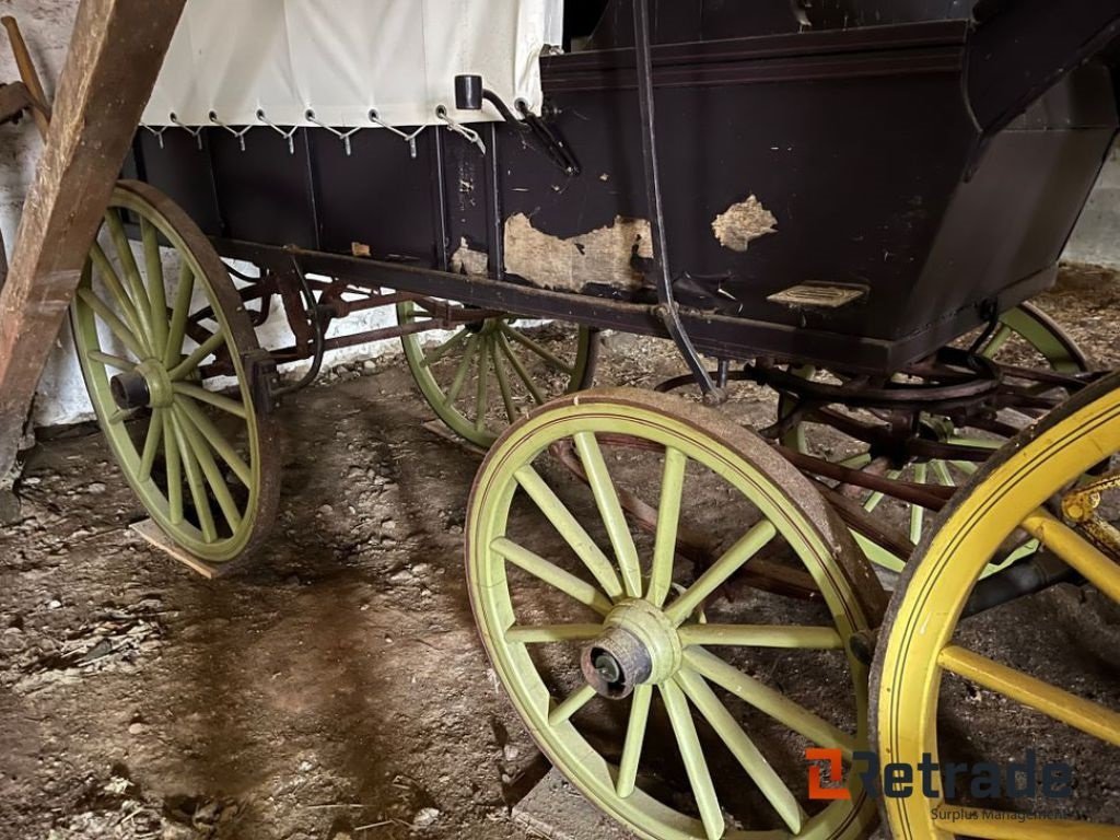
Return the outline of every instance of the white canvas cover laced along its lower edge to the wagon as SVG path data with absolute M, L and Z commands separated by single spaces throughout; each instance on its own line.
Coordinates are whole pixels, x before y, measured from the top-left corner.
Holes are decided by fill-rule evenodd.
M 455 76 L 479 74 L 511 108 L 539 112 L 539 58 L 563 0 L 188 0 L 147 125 L 338 128 L 477 121 L 455 110 Z M 175 115 L 175 119 L 171 115 Z M 497 113 L 486 106 L 486 119 Z

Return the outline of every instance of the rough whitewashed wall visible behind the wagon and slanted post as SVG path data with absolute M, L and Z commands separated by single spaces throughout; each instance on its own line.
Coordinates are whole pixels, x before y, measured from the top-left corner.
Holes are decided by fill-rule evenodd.
M 48 93 L 53 92 L 66 57 L 77 0 L 7 0 L 0 12 L 19 20 Z M 0 81 L 15 81 L 18 73 L 6 39 L 0 38 Z M 0 230 L 10 249 L 16 239 L 20 212 L 35 175 L 41 144 L 29 120 L 20 125 L 0 127 Z M 1074 234 L 1068 259 L 1120 268 L 1120 155 L 1113 152 L 1096 192 Z M 384 326 L 389 311 L 374 311 L 345 321 L 343 330 L 354 333 Z M 333 327 L 337 330 L 338 325 Z M 273 317 L 259 332 L 263 344 L 281 346 L 290 339 L 282 316 Z M 92 417 L 74 353 L 69 330 L 64 329 L 39 383 L 35 404 L 38 426 L 73 423 Z M 327 364 L 395 352 L 398 342 L 382 342 L 340 351 L 328 356 Z

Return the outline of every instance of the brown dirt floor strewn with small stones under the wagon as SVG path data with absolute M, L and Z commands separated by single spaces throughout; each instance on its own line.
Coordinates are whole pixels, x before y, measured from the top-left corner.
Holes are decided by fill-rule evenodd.
M 1066 272 L 1039 302 L 1095 366 L 1120 366 L 1116 277 Z M 598 384 L 679 372 L 663 344 L 605 344 Z M 774 410 L 755 388 L 728 408 L 759 426 Z M 30 452 L 22 519 L 0 530 L 3 840 L 526 836 L 511 809 L 549 765 L 500 690 L 463 573 L 479 457 L 424 428 L 399 360 L 336 370 L 282 417 L 276 534 L 216 581 L 128 530 L 141 511 L 91 429 Z M 1095 592 L 1058 587 L 978 627 L 984 650 L 1120 702 L 1120 613 Z M 836 679 L 766 668 L 790 691 Z M 1021 755 L 1026 727 L 1076 768 L 1068 814 L 1120 821 L 1114 753 L 953 691 L 965 752 Z

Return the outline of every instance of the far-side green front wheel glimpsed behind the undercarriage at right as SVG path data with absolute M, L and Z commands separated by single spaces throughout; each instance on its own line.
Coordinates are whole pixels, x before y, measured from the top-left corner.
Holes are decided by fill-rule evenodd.
M 1089 370 L 1089 361 L 1073 338 L 1037 307 L 1023 304 L 1000 316 L 999 321 L 997 329 L 980 348 L 980 355 L 996 362 L 1007 362 L 1024 367 L 1046 366 L 1057 373 L 1075 374 Z M 801 373 L 806 376 L 815 375 L 812 368 L 801 368 Z M 782 395 L 778 401 L 778 416 L 785 417 L 793 410 L 794 404 L 795 400 Z M 978 433 L 972 429 L 958 428 L 949 417 L 927 414 L 923 417 L 923 424 L 943 442 L 971 446 L 986 452 L 995 451 L 1005 442 L 1005 439 L 992 433 Z M 806 422 L 797 423 L 785 435 L 782 442 L 797 451 L 813 454 L 814 446 L 810 439 L 811 426 L 812 423 Z M 844 466 L 864 468 L 870 464 L 871 456 L 864 446 L 859 446 L 856 451 L 846 452 L 837 460 Z M 978 468 L 979 465 L 971 461 L 928 459 L 907 464 L 900 469 L 892 469 L 887 476 L 918 484 L 937 483 L 955 487 L 964 484 Z M 881 493 L 868 492 L 861 502 L 868 513 L 875 513 L 884 498 Z M 931 517 L 918 505 L 898 504 L 911 542 L 920 543 Z M 905 568 L 907 558 L 896 556 L 862 534 L 853 535 L 859 547 L 877 566 L 892 572 Z M 1033 554 L 1037 548 L 1038 544 L 1034 540 L 1019 545 L 1009 545 L 1008 551 L 989 566 L 986 575 L 991 575 Z

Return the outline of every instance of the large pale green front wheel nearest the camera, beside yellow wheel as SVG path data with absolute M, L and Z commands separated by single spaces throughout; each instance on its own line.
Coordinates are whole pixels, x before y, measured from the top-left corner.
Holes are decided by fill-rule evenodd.
M 575 448 L 586 485 L 545 482 L 558 446 Z M 627 495 L 657 511 L 653 533 L 632 530 Z M 676 553 L 678 533 L 697 528 L 718 538 L 702 571 Z M 821 598 L 717 597 L 760 552 L 811 576 Z M 868 830 L 875 809 L 858 774 L 847 774 L 850 800 L 806 801 L 804 750 L 864 748 L 867 672 L 848 641 L 877 626 L 885 598 L 819 494 L 753 432 L 666 394 L 558 399 L 491 449 L 466 561 L 475 619 L 517 712 L 629 830 Z

